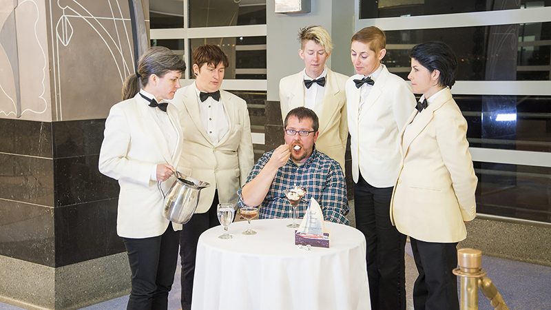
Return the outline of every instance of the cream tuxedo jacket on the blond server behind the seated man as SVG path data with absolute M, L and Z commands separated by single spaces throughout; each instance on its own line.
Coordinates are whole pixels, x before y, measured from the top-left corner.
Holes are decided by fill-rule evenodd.
M 327 70 L 324 99 L 320 118 L 320 136 L 315 147 L 340 163 L 344 172 L 344 153 L 349 128 L 346 124 L 346 93 L 348 76 Z M 281 117 L 295 107 L 304 107 L 304 73 L 285 76 L 280 81 Z

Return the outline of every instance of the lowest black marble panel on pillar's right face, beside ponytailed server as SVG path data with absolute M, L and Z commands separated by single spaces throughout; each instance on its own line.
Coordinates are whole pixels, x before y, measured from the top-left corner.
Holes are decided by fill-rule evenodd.
M 117 198 L 56 207 L 55 267 L 125 251 L 116 234 Z

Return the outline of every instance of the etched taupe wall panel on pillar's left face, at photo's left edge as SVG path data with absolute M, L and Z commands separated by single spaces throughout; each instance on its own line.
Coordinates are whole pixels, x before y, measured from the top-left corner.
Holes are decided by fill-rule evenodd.
M 0 117 L 51 121 L 43 1 L 0 0 Z

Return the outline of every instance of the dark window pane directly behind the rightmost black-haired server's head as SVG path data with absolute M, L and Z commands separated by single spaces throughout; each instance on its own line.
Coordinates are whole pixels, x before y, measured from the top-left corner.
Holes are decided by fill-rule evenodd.
M 445 41 L 457 54 L 459 81 L 549 81 L 551 22 L 386 32 L 388 70 L 407 79 L 413 45 Z

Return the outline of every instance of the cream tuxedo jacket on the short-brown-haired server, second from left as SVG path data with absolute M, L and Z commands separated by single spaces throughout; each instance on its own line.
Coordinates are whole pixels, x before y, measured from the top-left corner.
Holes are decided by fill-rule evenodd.
M 237 190 L 245 184 L 254 164 L 247 103 L 224 90 L 220 90 L 220 98 L 229 130 L 217 145 L 211 143 L 202 124 L 195 83 L 180 88 L 172 99 L 184 132 L 178 171 L 210 183 L 201 190 L 196 213 L 209 210 L 215 189 L 220 203 L 237 203 Z

